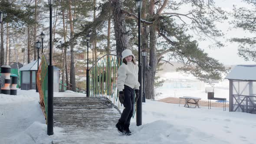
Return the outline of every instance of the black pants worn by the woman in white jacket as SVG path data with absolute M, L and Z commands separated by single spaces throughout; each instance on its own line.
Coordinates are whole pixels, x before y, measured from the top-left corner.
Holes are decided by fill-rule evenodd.
M 134 98 L 135 98 L 134 89 L 125 85 L 125 89 L 123 89 L 123 92 L 125 95 L 125 99 L 123 103 L 125 108 L 121 114 L 120 121 L 124 122 L 125 124 L 130 124 L 131 117 L 134 111 Z

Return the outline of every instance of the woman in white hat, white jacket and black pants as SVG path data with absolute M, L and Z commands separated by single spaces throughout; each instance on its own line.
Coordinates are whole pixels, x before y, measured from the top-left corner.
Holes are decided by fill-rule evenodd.
M 125 49 L 122 52 L 122 62 L 118 69 L 117 89 L 119 101 L 125 108 L 115 126 L 119 133 L 131 135 L 129 126 L 134 112 L 134 90 L 136 93 L 135 102 L 139 98 L 138 65 L 136 65 L 135 56 L 130 49 Z

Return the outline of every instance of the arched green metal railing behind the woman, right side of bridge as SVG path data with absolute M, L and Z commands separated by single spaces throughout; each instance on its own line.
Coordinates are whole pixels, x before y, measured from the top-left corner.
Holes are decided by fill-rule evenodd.
M 121 63 L 120 56 L 107 54 L 99 58 L 98 61 L 89 69 L 90 97 L 105 96 L 111 100 L 118 109 L 122 107 L 118 99 L 119 92 L 116 88 L 118 77 L 117 72 Z

